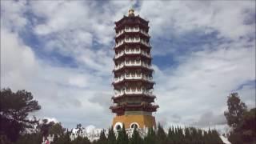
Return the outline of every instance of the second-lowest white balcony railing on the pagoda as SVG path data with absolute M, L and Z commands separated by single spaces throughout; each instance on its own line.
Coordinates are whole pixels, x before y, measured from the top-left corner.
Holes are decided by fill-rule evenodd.
M 148 77 L 146 75 L 142 75 L 142 74 L 125 74 L 124 76 L 122 75 L 121 77 L 114 78 L 114 83 L 121 82 L 124 79 L 142 79 L 142 80 L 146 80 L 146 81 L 149 81 L 149 82 L 153 82 L 153 78 L 152 77 Z

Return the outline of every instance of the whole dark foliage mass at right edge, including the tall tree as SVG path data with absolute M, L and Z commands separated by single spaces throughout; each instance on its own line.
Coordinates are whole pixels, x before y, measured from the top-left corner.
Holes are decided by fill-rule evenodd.
M 229 126 L 232 128 L 228 138 L 232 144 L 256 143 L 256 109 L 246 109 L 238 97 L 238 93 L 230 94 L 227 100 L 228 110 L 224 113 Z

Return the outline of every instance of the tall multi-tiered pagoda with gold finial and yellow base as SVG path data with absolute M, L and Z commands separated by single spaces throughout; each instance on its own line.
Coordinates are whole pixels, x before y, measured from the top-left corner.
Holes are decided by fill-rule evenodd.
M 154 105 L 150 55 L 149 22 L 134 15 L 129 10 L 115 22 L 114 46 L 114 106 L 110 106 L 116 117 L 113 120 L 115 130 L 155 127 L 152 112 L 158 109 Z

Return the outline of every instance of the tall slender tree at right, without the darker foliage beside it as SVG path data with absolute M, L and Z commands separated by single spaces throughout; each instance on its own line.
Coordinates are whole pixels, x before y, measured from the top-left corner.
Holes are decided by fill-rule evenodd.
M 224 112 L 227 124 L 234 130 L 242 122 L 242 116 L 246 112 L 246 104 L 242 102 L 238 93 L 231 93 L 227 99 L 228 110 Z

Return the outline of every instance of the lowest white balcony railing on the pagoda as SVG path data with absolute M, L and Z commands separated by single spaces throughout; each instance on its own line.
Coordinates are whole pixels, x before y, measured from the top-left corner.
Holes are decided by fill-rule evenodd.
M 142 89 L 125 89 L 125 90 L 121 90 L 121 91 L 116 91 L 114 93 L 114 97 L 119 97 L 122 96 L 124 94 L 146 94 L 146 95 L 150 95 L 150 96 L 154 96 L 152 91 L 149 90 L 142 90 Z

